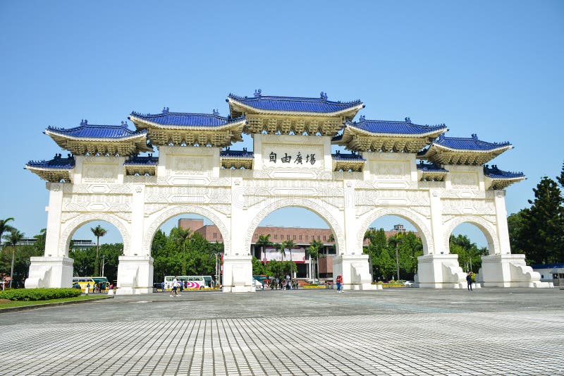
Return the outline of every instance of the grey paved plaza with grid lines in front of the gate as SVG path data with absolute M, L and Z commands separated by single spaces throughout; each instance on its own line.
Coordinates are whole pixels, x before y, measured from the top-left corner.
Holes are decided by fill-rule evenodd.
M 152 293 L 0 331 L 1 375 L 564 375 L 559 289 Z

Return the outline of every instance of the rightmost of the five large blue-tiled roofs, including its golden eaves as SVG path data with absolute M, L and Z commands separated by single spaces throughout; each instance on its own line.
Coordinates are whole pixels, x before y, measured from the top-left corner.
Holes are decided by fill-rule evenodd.
M 479 166 L 494 159 L 513 146 L 510 142 L 486 142 L 479 140 L 476 134 L 470 138 L 445 137 L 431 142 L 426 150 L 417 153 L 420 159 L 427 159 L 436 164 L 470 164 Z

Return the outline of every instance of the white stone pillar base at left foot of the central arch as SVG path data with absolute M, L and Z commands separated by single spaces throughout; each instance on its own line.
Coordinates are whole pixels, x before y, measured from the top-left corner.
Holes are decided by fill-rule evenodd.
M 252 287 L 251 256 L 223 256 L 222 288 L 224 293 L 255 292 Z

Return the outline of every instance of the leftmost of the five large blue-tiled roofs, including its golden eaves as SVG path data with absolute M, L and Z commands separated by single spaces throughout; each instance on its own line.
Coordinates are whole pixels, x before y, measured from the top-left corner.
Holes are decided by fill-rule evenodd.
M 44 132 L 61 148 L 76 155 L 131 155 L 152 151 L 146 131 L 130 131 L 124 121 L 120 126 L 102 126 L 80 121 L 75 128 L 47 127 Z

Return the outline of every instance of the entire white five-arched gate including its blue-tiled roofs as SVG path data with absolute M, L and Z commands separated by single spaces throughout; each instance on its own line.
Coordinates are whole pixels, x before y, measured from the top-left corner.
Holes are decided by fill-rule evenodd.
M 419 286 L 459 288 L 465 273 L 448 249 L 450 233 L 468 222 L 482 230 L 484 286 L 547 286 L 510 253 L 505 191 L 521 173 L 484 165 L 512 146 L 445 137 L 447 128 L 374 121 L 360 100 L 228 95 L 229 115 L 133 112 L 128 124 L 47 128 L 63 158 L 29 162 L 46 180 L 49 216 L 44 257 L 32 257 L 26 287 L 71 286 L 68 248 L 87 222 L 116 226 L 123 238 L 118 293 L 152 291 L 151 243 L 161 224 L 179 214 L 207 217 L 221 231 L 223 291 L 254 291 L 250 245 L 259 223 L 282 207 L 304 207 L 329 224 L 335 239 L 333 274 L 345 289 L 374 289 L 364 232 L 374 220 L 409 220 L 424 245 Z M 230 150 L 241 134 L 253 150 Z M 341 145 L 350 153 L 331 153 Z M 159 156 L 140 153 L 157 148 Z M 419 161 L 418 161 L 419 159 Z

